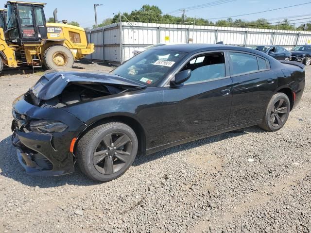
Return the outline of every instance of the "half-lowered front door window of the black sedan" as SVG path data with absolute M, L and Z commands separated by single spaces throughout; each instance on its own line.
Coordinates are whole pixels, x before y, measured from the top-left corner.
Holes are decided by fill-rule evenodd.
M 183 67 L 182 70 L 191 69 L 191 76 L 185 83 L 208 81 L 225 77 L 224 53 L 211 53 L 200 55 Z

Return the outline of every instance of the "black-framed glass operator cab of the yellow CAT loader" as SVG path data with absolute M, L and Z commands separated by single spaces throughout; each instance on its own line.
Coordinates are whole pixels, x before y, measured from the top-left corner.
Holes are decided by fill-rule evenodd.
M 40 44 L 47 38 L 45 3 L 8 1 L 5 38 L 17 45 Z

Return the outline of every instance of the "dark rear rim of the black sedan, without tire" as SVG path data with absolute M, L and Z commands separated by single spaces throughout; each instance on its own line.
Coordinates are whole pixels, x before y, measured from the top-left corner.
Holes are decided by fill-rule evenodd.
M 289 106 L 284 99 L 277 100 L 270 110 L 270 122 L 272 126 L 279 127 L 285 123 Z

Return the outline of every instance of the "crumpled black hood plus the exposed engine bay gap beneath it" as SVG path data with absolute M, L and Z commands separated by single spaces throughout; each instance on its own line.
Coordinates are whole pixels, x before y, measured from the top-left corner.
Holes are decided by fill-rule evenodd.
M 111 74 L 51 72 L 25 94 L 25 100 L 39 107 L 62 108 L 144 87 Z

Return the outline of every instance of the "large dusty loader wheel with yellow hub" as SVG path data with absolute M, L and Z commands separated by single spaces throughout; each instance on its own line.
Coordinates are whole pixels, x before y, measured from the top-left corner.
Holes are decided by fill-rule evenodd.
M 72 52 L 65 46 L 54 45 L 43 53 L 43 64 L 48 69 L 68 69 L 73 66 Z

